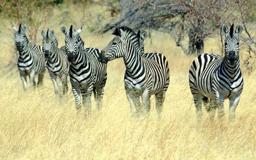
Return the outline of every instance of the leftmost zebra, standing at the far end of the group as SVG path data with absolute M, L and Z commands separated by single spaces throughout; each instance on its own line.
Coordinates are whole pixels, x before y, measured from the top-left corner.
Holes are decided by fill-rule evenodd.
M 38 74 L 37 86 L 41 86 L 45 73 L 45 56 L 43 47 L 30 45 L 25 34 L 27 25 L 19 24 L 19 28 L 13 27 L 15 45 L 18 50 L 18 70 L 23 82 L 24 90 L 27 89 L 27 75 L 30 79 L 31 87 L 35 87 L 35 75 Z

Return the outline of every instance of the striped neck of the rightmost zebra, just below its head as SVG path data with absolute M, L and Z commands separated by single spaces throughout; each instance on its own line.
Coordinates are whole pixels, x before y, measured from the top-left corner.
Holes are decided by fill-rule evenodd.
M 234 79 L 237 75 L 239 75 L 240 70 L 240 59 L 233 65 L 228 63 L 228 60 L 226 57 L 223 59 L 221 71 L 224 72 L 230 80 Z

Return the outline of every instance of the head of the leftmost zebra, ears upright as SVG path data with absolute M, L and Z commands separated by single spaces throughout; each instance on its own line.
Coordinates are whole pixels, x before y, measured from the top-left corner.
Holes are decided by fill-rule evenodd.
M 22 49 L 24 46 L 28 44 L 28 38 L 25 34 L 27 29 L 27 25 L 19 24 L 18 29 L 16 27 L 12 27 L 14 31 L 14 39 L 17 49 Z

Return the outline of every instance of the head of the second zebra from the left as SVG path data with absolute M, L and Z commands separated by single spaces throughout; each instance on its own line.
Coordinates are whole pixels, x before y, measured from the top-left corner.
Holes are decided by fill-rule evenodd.
M 43 29 L 41 30 L 41 34 L 43 36 L 43 52 L 46 58 L 49 58 L 52 56 L 52 47 L 55 45 L 50 32 L 51 31 L 49 31 L 48 29 L 45 34 L 44 30 Z

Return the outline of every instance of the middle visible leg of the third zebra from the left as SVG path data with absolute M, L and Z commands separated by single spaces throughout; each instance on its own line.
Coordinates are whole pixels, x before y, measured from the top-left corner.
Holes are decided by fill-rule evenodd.
M 83 98 L 83 105 L 85 107 L 85 116 L 91 113 L 91 94 L 93 91 L 93 87 L 89 87 L 87 90 L 82 89 L 81 94 Z

